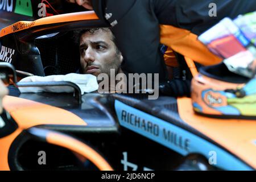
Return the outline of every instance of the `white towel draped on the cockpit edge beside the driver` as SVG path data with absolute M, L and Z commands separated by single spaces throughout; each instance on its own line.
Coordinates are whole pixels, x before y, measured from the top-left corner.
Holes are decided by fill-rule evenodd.
M 51 76 L 29 76 L 20 80 L 20 82 L 53 82 L 53 81 L 69 81 L 79 86 L 81 93 L 90 93 L 98 90 L 97 77 L 93 75 L 84 75 L 77 73 L 69 73 L 68 75 L 51 75 Z M 21 93 L 38 93 L 38 92 L 54 92 L 54 93 L 72 93 L 74 89 L 71 86 L 33 86 L 20 87 Z

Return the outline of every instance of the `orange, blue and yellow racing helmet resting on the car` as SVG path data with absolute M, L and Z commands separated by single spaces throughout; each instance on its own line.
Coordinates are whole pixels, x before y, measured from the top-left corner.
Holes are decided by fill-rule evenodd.
M 196 113 L 217 118 L 256 119 L 256 77 L 230 72 L 224 63 L 201 68 L 192 80 Z

